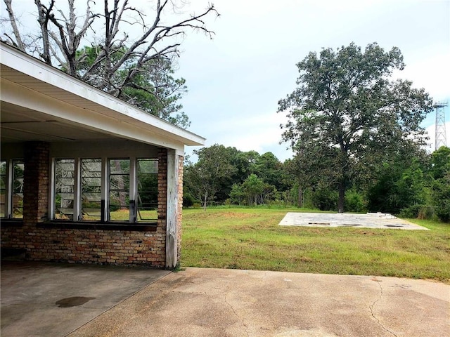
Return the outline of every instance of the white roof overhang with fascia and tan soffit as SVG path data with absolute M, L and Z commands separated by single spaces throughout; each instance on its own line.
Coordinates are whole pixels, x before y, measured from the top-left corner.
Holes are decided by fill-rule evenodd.
M 122 138 L 184 150 L 205 138 L 0 43 L 1 141 Z

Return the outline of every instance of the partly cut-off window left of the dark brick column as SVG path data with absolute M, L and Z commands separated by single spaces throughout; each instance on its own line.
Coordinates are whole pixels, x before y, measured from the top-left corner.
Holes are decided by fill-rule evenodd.
M 0 216 L 23 218 L 23 171 L 22 159 L 0 161 Z

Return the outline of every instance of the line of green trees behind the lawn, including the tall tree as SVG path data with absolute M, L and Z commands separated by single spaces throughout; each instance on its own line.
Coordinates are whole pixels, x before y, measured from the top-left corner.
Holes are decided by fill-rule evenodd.
M 421 126 L 433 102 L 394 79 L 399 48 L 342 46 L 297 63 L 296 88 L 279 100 L 282 140 L 293 159 L 213 145 L 186 166 L 186 204 L 297 204 L 326 211 L 380 211 L 450 218 L 450 150 L 425 152 Z

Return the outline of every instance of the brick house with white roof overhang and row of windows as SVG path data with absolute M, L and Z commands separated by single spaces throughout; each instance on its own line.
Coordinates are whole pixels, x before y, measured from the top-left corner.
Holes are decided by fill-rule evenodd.
M 1 249 L 179 263 L 184 146 L 205 138 L 0 44 Z

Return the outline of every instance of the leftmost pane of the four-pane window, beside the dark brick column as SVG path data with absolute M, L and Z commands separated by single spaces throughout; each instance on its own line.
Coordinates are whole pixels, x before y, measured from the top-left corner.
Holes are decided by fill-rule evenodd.
M 73 220 L 75 159 L 55 161 L 55 218 Z

